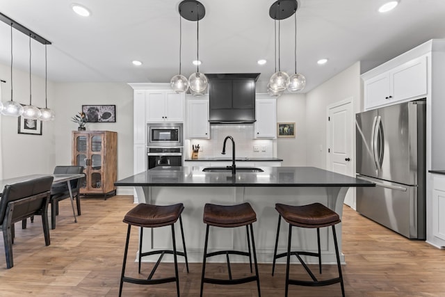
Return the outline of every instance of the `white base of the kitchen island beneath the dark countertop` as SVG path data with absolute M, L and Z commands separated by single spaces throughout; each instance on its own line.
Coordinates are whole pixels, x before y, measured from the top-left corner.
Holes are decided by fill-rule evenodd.
M 211 186 L 152 186 L 144 188 L 144 201 L 151 204 L 167 205 L 184 203 L 182 222 L 184 236 L 190 262 L 202 262 L 206 225 L 202 222 L 203 209 L 206 203 L 231 205 L 250 202 L 257 213 L 257 222 L 253 224 L 258 260 L 261 263 L 271 263 L 277 231 L 278 213 L 275 203 L 303 205 L 320 202 L 336 211 L 340 216 L 343 200 L 348 188 L 305 188 L 305 187 L 211 187 Z M 139 199 L 141 197 L 139 196 Z M 279 252 L 284 252 L 287 244 L 287 224 L 282 220 L 280 230 Z M 341 224 L 337 225 L 337 237 L 341 250 Z M 179 236 L 179 224 L 175 225 L 177 246 L 182 248 Z M 335 263 L 335 250 L 332 232 L 328 228 L 321 229 L 321 249 L 323 263 Z M 209 234 L 209 251 L 231 250 L 247 247 L 245 227 L 219 228 L 211 227 Z M 143 252 L 151 249 L 166 249 L 172 246 L 170 227 L 144 230 Z M 316 251 L 316 229 L 294 228 L 293 248 Z M 170 257 L 165 258 L 172 261 Z M 155 258 L 145 257 L 143 261 L 155 261 Z M 225 256 L 213 257 L 211 262 L 225 262 Z M 231 262 L 246 262 L 241 256 L 231 256 Z M 179 261 L 184 259 L 179 257 Z M 307 257 L 309 263 L 317 263 L 314 257 Z M 341 255 L 344 262 L 344 256 Z M 293 260 L 293 262 L 296 262 Z

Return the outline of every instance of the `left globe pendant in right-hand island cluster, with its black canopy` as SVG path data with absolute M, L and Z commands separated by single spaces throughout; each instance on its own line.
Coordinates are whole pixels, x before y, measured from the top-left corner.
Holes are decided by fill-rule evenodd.
M 295 0 L 293 0 L 295 1 Z M 281 31 L 281 20 L 289 17 L 290 15 L 284 17 L 286 15 L 286 4 L 292 1 L 276 1 L 270 6 L 269 15 L 273 19 L 278 19 L 278 72 L 275 72 L 272 77 L 270 77 L 270 88 L 274 91 L 284 91 L 287 86 L 289 86 L 289 75 L 286 72 L 281 71 L 281 56 L 280 56 L 280 31 Z M 284 5 L 282 5 L 282 3 Z M 295 1 L 296 3 L 296 1 Z

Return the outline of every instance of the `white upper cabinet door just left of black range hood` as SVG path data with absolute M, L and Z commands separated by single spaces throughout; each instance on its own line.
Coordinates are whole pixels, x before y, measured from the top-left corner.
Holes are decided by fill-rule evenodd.
M 187 138 L 209 139 L 209 99 L 188 99 L 187 127 Z

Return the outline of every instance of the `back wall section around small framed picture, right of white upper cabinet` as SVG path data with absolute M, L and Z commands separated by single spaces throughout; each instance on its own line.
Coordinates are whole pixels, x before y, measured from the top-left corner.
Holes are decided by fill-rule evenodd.
M 282 166 L 306 166 L 306 96 L 283 94 L 277 99 L 277 122 L 295 122 L 295 138 L 277 138 L 277 157 Z

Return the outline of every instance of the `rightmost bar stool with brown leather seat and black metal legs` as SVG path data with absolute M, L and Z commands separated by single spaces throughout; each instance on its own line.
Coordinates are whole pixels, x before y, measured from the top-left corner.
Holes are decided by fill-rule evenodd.
M 341 285 L 341 294 L 344 297 L 345 289 L 343 286 L 343 275 L 341 274 L 339 246 L 337 245 L 337 234 L 335 233 L 335 225 L 341 222 L 339 215 L 335 211 L 332 211 L 331 209 L 325 207 L 323 204 L 320 203 L 313 203 L 303 206 L 291 206 L 291 205 L 277 203 L 275 204 L 275 209 L 277 209 L 280 216 L 278 218 L 277 238 L 275 240 L 275 252 L 273 255 L 272 275 L 275 271 L 275 260 L 281 257 L 287 257 L 285 296 L 287 296 L 288 294 L 289 284 L 297 284 L 300 286 L 309 286 L 309 287 L 319 287 L 319 286 L 327 286 L 330 284 L 336 284 L 337 282 L 339 282 Z M 280 234 L 280 223 L 282 217 L 284 218 L 284 220 L 286 220 L 287 223 L 289 223 L 289 239 L 287 241 L 287 252 L 283 252 L 282 254 L 277 255 L 278 235 Z M 339 269 L 339 277 L 332 278 L 329 280 L 317 280 L 314 273 L 312 273 L 312 271 L 307 266 L 307 264 L 305 264 L 300 255 L 318 257 L 318 267 L 321 274 L 320 228 L 328 226 L 332 226 L 332 235 L 334 236 L 334 246 L 337 256 L 337 267 Z M 292 227 L 316 228 L 318 252 L 291 251 Z M 289 279 L 289 264 L 291 255 L 296 255 L 302 266 L 305 268 L 309 276 L 312 278 L 312 281 Z

